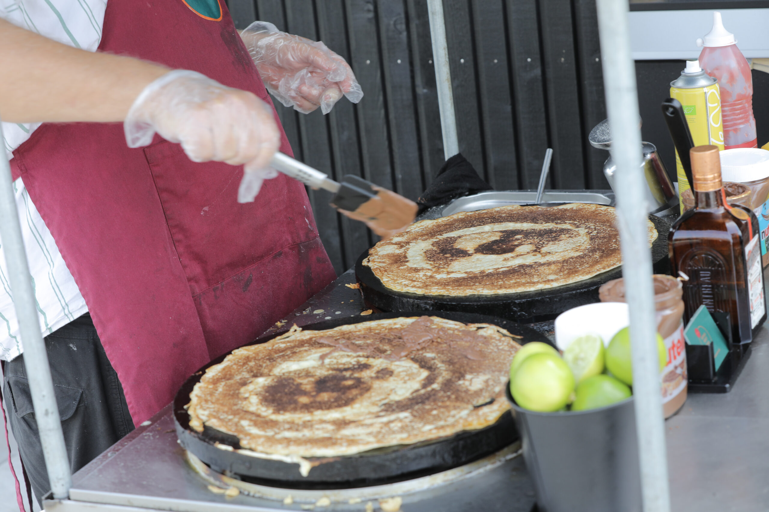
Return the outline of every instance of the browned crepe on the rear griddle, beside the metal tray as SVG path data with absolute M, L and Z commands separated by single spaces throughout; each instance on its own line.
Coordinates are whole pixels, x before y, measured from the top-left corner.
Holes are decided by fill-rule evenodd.
M 384 286 L 424 295 L 491 295 L 567 285 L 621 265 L 614 208 L 501 206 L 411 224 L 369 250 Z M 648 222 L 649 245 L 657 230 Z

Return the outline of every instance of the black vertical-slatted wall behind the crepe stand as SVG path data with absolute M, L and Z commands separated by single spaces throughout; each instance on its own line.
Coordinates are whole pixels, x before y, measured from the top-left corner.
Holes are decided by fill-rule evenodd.
M 322 40 L 351 64 L 365 97 L 331 114 L 277 104 L 296 157 L 339 178 L 356 174 L 411 199 L 444 162 L 424 0 L 229 0 L 238 28 L 271 21 Z M 444 0 L 460 150 L 498 190 L 535 188 L 548 147 L 550 187 L 608 188 L 594 0 Z M 310 191 L 338 272 L 375 238 Z

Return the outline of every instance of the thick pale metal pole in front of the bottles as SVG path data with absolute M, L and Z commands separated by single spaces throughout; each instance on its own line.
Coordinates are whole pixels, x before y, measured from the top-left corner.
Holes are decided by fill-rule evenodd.
M 647 243 L 647 211 L 641 174 L 638 92 L 631 58 L 628 0 L 597 0 L 606 110 L 611 125 L 611 157 L 622 249 L 622 276 L 630 309 L 633 395 L 641 458 L 645 512 L 669 512 L 667 454 L 657 363 L 657 322 L 651 253 Z M 659 236 L 667 236 L 660 233 Z

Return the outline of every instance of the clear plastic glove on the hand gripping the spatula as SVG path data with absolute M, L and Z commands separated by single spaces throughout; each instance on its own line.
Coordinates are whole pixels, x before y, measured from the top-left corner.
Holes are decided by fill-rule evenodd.
M 243 165 L 238 201 L 254 200 L 281 135 L 272 107 L 248 91 L 228 88 L 195 71 L 170 71 L 138 95 L 125 117 L 128 147 L 150 144 L 155 132 L 181 144 L 194 162 Z

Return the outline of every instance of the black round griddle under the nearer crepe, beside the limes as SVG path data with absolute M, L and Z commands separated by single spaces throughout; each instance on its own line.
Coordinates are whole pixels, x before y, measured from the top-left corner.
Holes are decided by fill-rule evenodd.
M 487 315 L 458 312 L 419 311 L 355 316 L 318 322 L 306 325 L 303 329 L 333 329 L 340 325 L 368 322 L 369 320 L 418 315 L 436 315 L 466 324 L 491 323 L 507 329 L 511 334 L 523 336 L 522 339 L 516 339 L 521 344 L 545 342 L 552 345 L 543 335 L 524 325 Z M 260 338 L 251 345 L 268 342 L 283 332 Z M 350 488 L 391 483 L 468 464 L 518 440 L 518 431 L 515 429 L 508 411 L 496 423 L 487 428 L 464 431 L 435 441 L 378 448 L 343 457 L 308 457 L 308 461 L 318 465 L 311 469 L 307 477 L 302 477 L 299 473 L 298 464 L 251 457 L 216 447 L 215 444 L 218 443 L 235 450 L 240 449 L 238 438 L 235 436 L 208 426 L 203 432 L 194 431 L 190 428 L 189 415 L 185 405 L 189 403 L 192 388 L 198 383 L 206 368 L 217 365 L 225 357 L 226 355 L 222 355 L 211 361 L 198 372 L 195 372 L 181 386 L 174 399 L 174 423 L 182 447 L 191 451 L 201 461 L 211 466 L 214 471 L 237 474 L 244 481 L 272 487 L 301 489 Z

